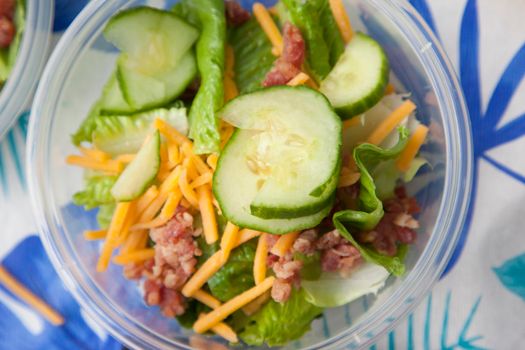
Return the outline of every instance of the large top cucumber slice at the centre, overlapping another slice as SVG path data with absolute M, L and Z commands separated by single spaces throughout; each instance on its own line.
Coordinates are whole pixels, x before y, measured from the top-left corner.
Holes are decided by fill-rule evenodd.
M 215 175 L 221 183 L 237 177 L 236 168 L 249 167 L 242 176 L 255 178 L 255 192 L 244 198 L 251 214 L 297 218 L 327 206 L 337 185 L 332 179 L 339 172 L 342 132 L 341 120 L 324 96 L 305 87 L 274 87 L 236 98 L 219 115 L 251 130 L 247 140 L 239 136 L 223 151 L 225 165 Z M 229 185 L 221 190 L 230 197 Z

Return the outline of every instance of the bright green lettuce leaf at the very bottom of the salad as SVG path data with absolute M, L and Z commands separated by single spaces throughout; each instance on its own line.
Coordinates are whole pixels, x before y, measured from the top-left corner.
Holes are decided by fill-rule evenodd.
M 305 292 L 293 290 L 284 303 L 270 300 L 255 315 L 233 324 L 239 337 L 248 345 L 279 346 L 300 338 L 310 330 L 310 324 L 323 309 L 306 301 Z M 247 321 L 247 322 L 246 322 Z

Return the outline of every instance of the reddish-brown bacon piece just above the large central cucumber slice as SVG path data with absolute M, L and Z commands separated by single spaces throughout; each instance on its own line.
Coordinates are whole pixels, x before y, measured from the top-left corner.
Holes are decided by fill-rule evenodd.
M 286 85 L 301 73 L 305 58 L 305 42 L 301 31 L 296 26 L 286 22 L 283 28 L 283 53 L 268 72 L 263 86 Z

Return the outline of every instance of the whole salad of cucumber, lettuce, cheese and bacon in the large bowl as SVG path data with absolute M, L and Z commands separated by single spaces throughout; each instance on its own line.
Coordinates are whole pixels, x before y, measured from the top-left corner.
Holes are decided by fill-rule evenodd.
M 341 0 L 116 14 L 120 54 L 72 136 L 97 271 L 197 333 L 277 346 L 405 272 L 427 126 Z

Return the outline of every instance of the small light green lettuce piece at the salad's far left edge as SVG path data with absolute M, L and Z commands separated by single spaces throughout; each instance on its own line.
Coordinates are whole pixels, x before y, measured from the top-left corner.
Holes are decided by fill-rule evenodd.
M 115 181 L 117 181 L 116 176 L 94 176 L 86 179 L 85 189 L 73 195 L 73 203 L 83 205 L 87 210 L 101 204 L 114 203 L 111 187 Z

